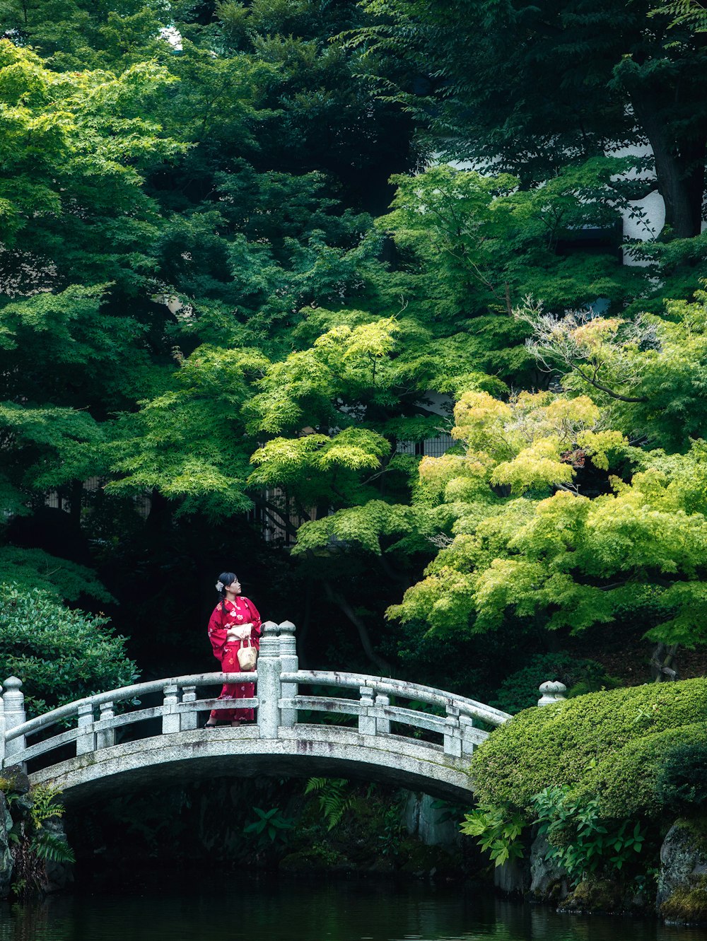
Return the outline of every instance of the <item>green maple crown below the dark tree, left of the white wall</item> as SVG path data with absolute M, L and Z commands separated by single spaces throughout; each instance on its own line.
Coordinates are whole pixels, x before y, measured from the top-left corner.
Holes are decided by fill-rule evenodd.
M 418 309 L 426 307 L 418 315 L 447 330 L 460 320 L 486 317 L 468 323 L 479 334 L 483 356 L 490 313 L 510 314 L 526 295 L 563 311 L 599 297 L 621 310 L 627 298 L 645 293 L 642 269 L 621 265 L 608 248 L 589 251 L 578 241 L 587 227 L 611 231 L 620 224 L 619 211 L 635 196 L 634 184 L 620 179 L 629 163 L 595 158 L 564 167 L 537 189 L 522 189 L 508 174 L 482 176 L 447 166 L 394 177 L 393 212 L 377 225 L 389 231 L 399 265 L 410 271 L 410 295 L 416 289 Z M 506 369 L 518 381 L 517 328 L 515 337 L 512 325 L 496 330 L 500 348 L 494 353 L 499 360 L 506 356 Z M 482 361 L 497 372 L 497 363 Z

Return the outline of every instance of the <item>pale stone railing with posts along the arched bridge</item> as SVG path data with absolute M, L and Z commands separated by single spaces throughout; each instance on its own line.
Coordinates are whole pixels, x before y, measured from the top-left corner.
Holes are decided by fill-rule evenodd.
M 223 682 L 256 682 L 256 695 L 249 699 L 198 698 L 202 687 Z M 302 694 L 301 686 L 324 687 L 328 694 Z M 53 758 L 65 758 L 67 747 L 73 749 L 74 743 L 77 756 L 88 755 L 116 744 L 119 730 L 147 720 L 161 720 L 163 735 L 194 731 L 199 713 L 212 709 L 256 709 L 255 726 L 244 729 L 243 734 L 261 739 L 306 738 L 312 726 L 299 722 L 302 710 L 358 717 L 358 731 L 363 736 L 390 736 L 394 723 L 396 735 L 402 738 L 406 736 L 400 735 L 400 727 L 411 729 L 412 736 L 418 738 L 421 731 L 438 733 L 442 744 L 430 747 L 456 758 L 471 756 L 474 747 L 488 736 L 479 722 L 492 727 L 510 718 L 474 699 L 428 686 L 366 674 L 299 670 L 295 626 L 289 621 L 265 623 L 254 673 L 201 673 L 150 680 L 86 696 L 29 721 L 24 715 L 22 681 L 10 677 L 4 687 L 0 697 L 0 758 L 4 767 L 49 757 L 58 749 L 63 751 Z M 337 690 L 358 690 L 358 697 L 336 696 Z M 139 698 L 153 694 L 161 694 L 162 701 L 142 706 Z M 392 696 L 421 708 L 392 703 Z

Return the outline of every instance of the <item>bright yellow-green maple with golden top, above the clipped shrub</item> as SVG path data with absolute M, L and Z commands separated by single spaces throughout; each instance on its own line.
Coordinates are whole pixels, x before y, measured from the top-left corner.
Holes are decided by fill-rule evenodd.
M 447 544 L 389 614 L 480 632 L 509 614 L 568 633 L 629 618 L 662 644 L 704 642 L 703 442 L 641 452 L 586 396 L 468 392 L 455 417 L 463 454 L 420 466 Z

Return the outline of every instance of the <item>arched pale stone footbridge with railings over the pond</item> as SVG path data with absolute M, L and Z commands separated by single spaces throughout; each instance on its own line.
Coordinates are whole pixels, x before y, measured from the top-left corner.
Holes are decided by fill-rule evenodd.
M 246 677 L 257 682 L 251 699 L 198 698 L 203 687 Z M 16 677 L 5 682 L 3 768 L 24 765 L 32 784 L 52 782 L 68 805 L 225 774 L 363 778 L 468 803 L 474 748 L 510 718 L 398 679 L 299 670 L 289 621 L 265 623 L 254 674 L 138 683 L 29 721 L 21 687 Z M 257 709 L 257 721 L 200 727 L 207 710 L 236 706 Z

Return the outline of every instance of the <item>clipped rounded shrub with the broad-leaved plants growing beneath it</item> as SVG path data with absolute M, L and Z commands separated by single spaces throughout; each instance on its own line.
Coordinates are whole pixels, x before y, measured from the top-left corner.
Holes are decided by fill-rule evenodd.
M 537 825 L 545 859 L 570 885 L 624 869 L 645 882 L 675 815 L 703 812 L 706 695 L 699 678 L 519 713 L 474 753 L 478 806 L 462 832 L 498 866 L 524 855 Z

